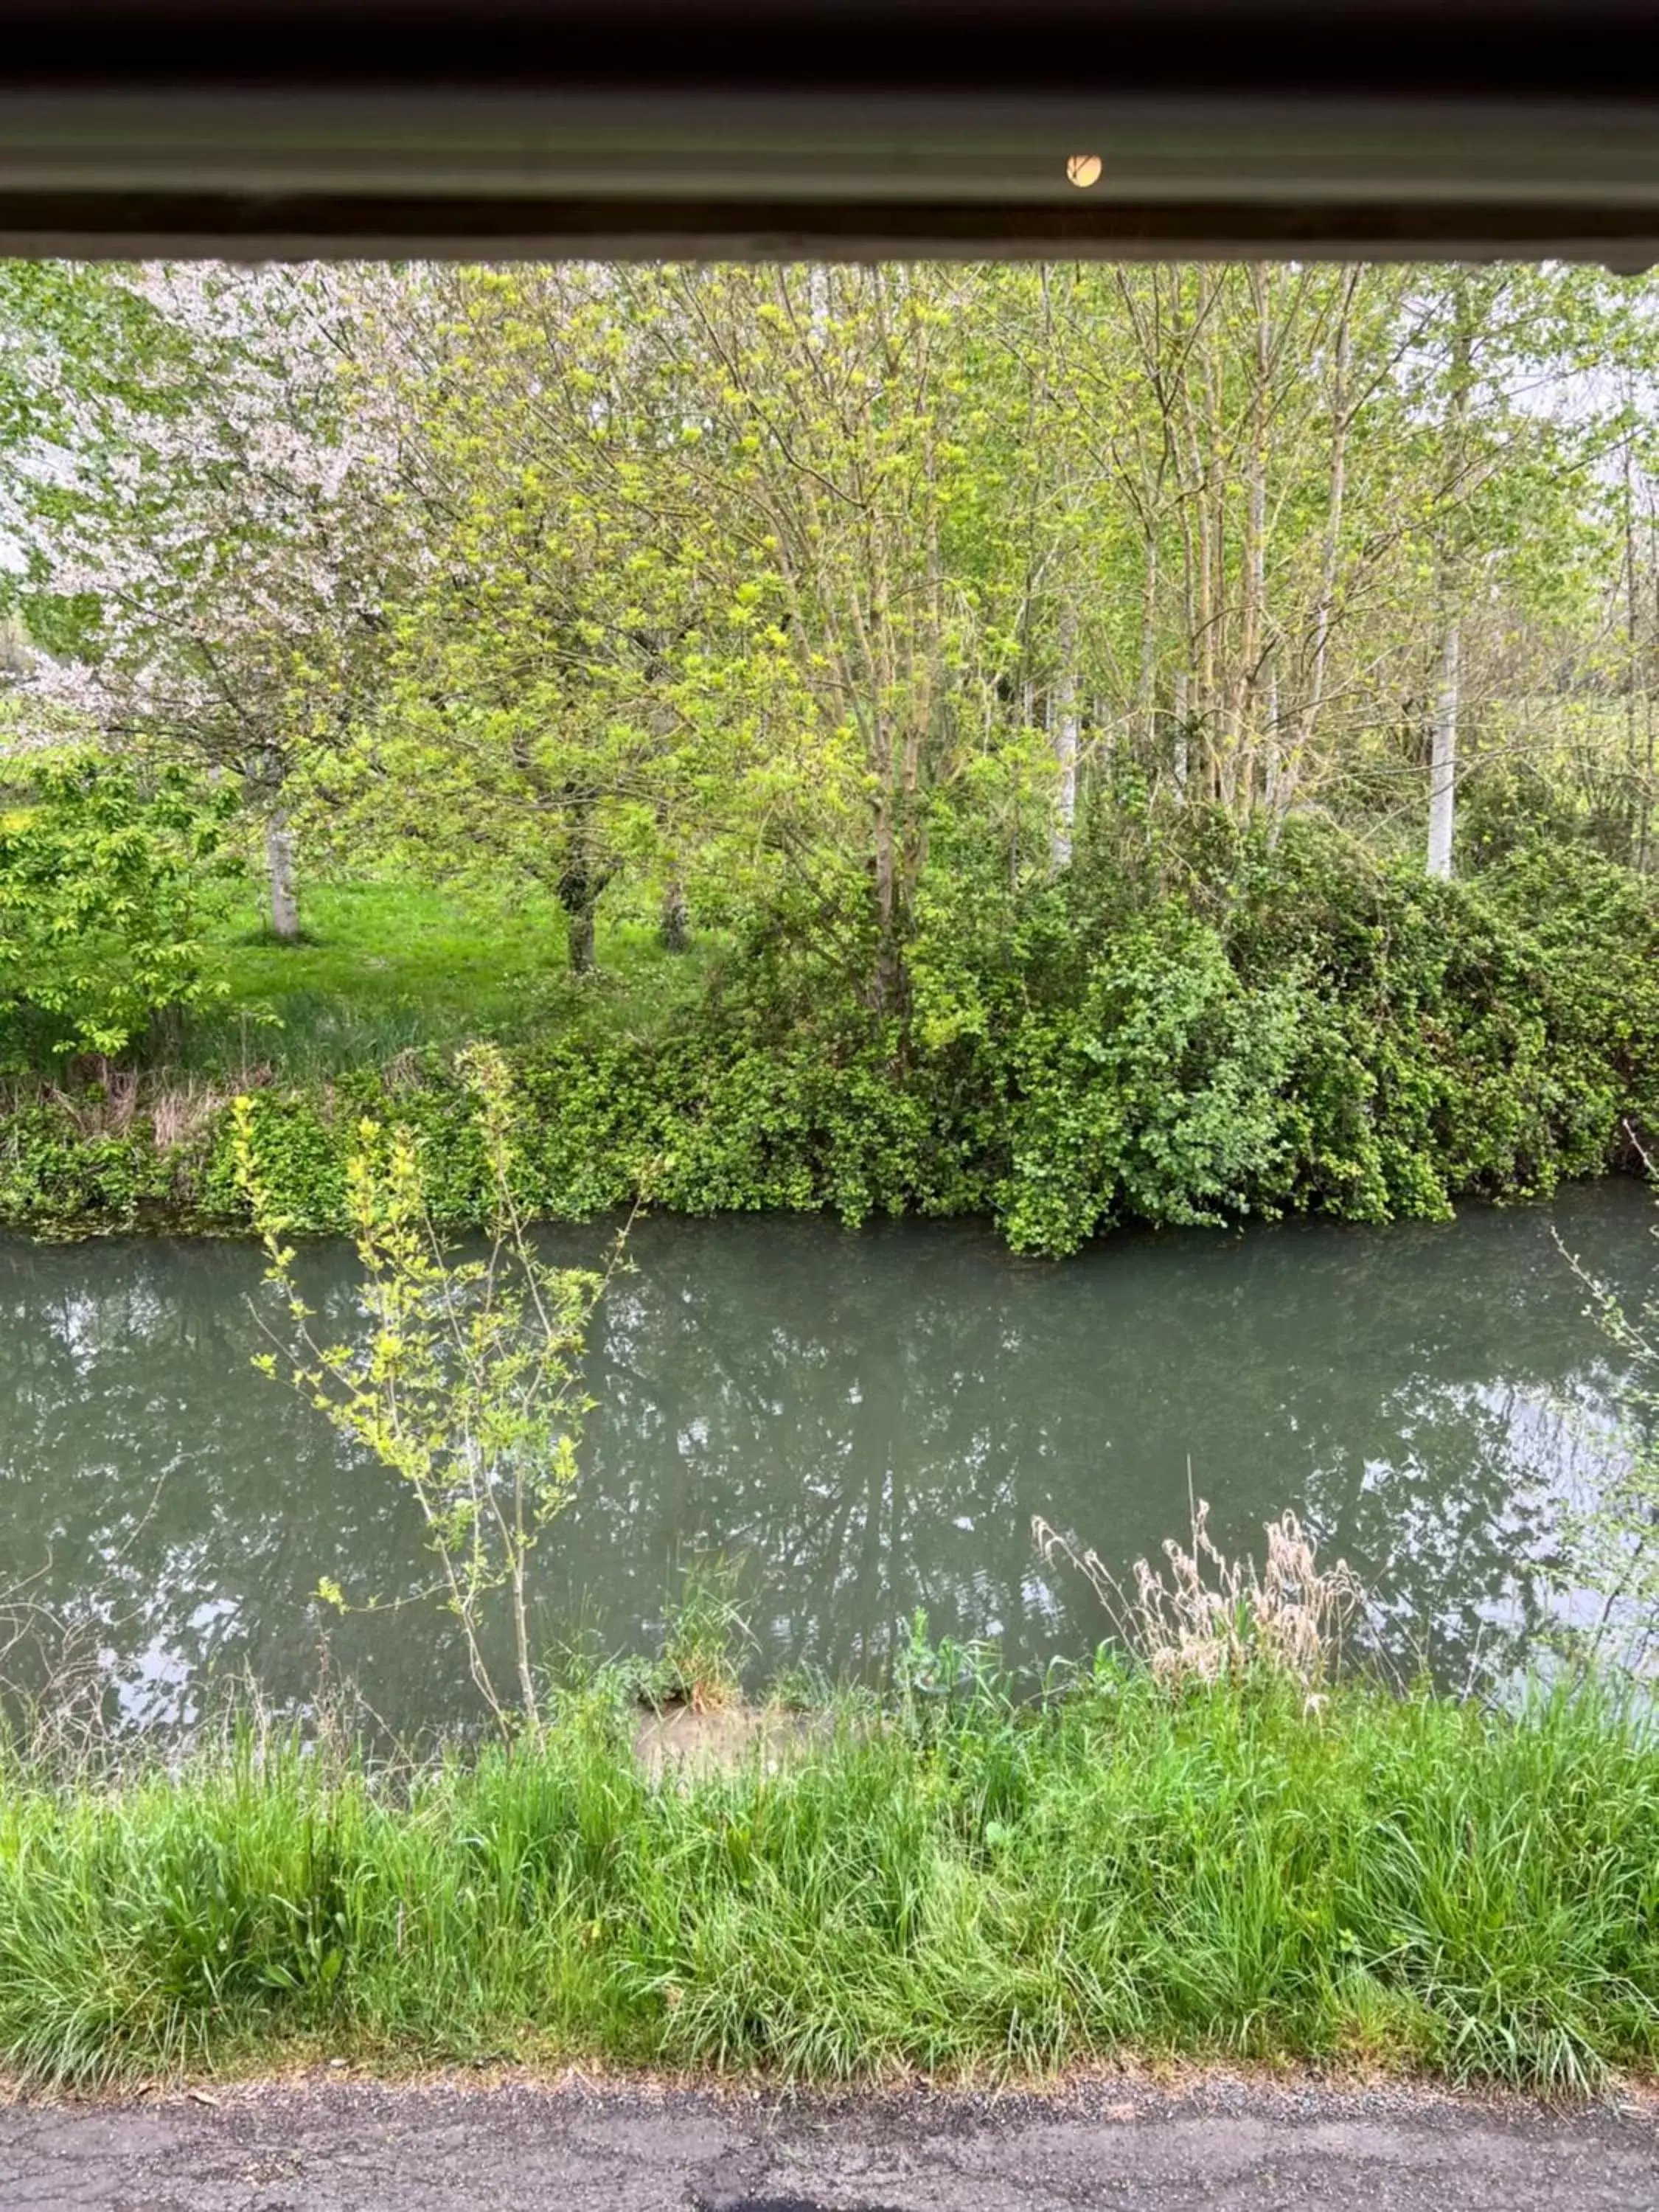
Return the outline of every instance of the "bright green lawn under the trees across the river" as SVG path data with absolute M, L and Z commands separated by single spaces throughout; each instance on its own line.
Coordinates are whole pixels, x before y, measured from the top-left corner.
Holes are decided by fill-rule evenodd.
M 168 1066 L 299 1079 L 471 1037 L 655 1029 L 697 998 L 712 958 L 708 942 L 664 953 L 644 920 L 602 920 L 599 973 L 577 982 L 553 898 L 403 880 L 307 885 L 303 918 L 305 938 L 281 945 L 252 898 L 226 909 L 208 942 L 223 998 L 190 1018 Z

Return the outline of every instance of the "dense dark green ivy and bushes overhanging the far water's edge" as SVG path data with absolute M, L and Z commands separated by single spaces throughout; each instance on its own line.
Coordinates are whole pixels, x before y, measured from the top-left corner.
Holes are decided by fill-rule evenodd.
M 1444 1217 L 1606 1172 L 1659 1126 L 1659 898 L 1584 847 L 1431 883 L 1296 823 L 1210 869 L 1150 854 L 1020 891 L 940 869 L 902 1011 L 770 916 L 670 1033 L 522 1042 L 511 1066 L 549 1219 L 646 1190 L 692 1214 L 989 1214 L 1064 1254 L 1126 1221 Z M 131 1113 L 102 1097 L 20 1086 L 4 1223 L 243 1223 L 228 1104 L 164 1071 Z M 365 1115 L 418 1133 L 442 1221 L 480 1217 L 478 1130 L 429 1053 L 257 1093 L 296 1230 L 341 1225 Z

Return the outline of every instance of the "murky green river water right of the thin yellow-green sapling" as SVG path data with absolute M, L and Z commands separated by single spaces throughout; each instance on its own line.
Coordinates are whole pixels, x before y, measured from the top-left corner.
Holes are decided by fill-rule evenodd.
M 1617 1194 L 1590 1217 L 1610 1250 L 1632 1241 Z M 1181 1524 L 1190 1458 L 1228 1542 L 1296 1504 L 1442 1666 L 1535 1610 L 1517 1559 L 1544 1544 L 1555 1440 L 1524 1416 L 1595 1363 L 1540 1217 L 1148 1241 L 1075 1270 L 964 1232 L 803 1234 L 728 1228 L 695 1274 L 659 1248 L 617 1316 L 586 1506 L 619 1517 L 653 1582 L 695 1524 L 770 1562 L 832 1661 L 914 1601 L 956 1630 L 1000 1624 L 1018 1655 L 1075 1648 L 1095 1624 L 1075 1593 L 1044 1606 L 1029 1513 L 1128 1562 Z M 613 1464 L 688 1371 L 699 1422 L 677 1427 L 670 1504 Z

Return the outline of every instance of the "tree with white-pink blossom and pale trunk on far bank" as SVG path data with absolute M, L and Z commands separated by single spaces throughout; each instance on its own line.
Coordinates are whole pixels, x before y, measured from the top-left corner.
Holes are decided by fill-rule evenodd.
M 29 551 L 66 650 L 42 717 L 234 779 L 263 836 L 270 927 L 299 936 L 288 785 L 372 697 L 398 507 L 354 405 L 354 288 L 319 265 L 144 263 L 97 281 L 97 358 L 38 349 L 60 418 L 29 478 Z

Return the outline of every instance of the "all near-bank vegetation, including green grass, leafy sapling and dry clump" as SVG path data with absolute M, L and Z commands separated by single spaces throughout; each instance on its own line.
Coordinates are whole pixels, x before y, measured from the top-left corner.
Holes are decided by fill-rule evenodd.
M 542 1334 L 498 1343 L 502 1292 L 431 1254 L 416 1170 L 365 1183 L 385 1148 L 361 1146 L 380 1276 L 316 1380 L 431 1509 L 427 1601 L 473 1641 L 484 1608 L 522 1617 L 513 1546 L 568 1502 L 580 1323 L 553 1283 L 553 1387 L 522 1405 Z M 1630 1597 L 1650 1515 L 1615 1526 L 1619 1504 L 1584 1564 Z M 1551 2093 L 1652 2073 L 1659 1739 L 1635 1681 L 1582 1648 L 1551 1688 L 1400 1681 L 1290 1515 L 1252 1566 L 1199 1504 L 1128 1590 L 1046 1524 L 1033 1542 L 1113 1630 L 1042 1681 L 918 1619 L 880 1686 L 799 1677 L 750 1708 L 714 1562 L 655 1661 L 538 1659 L 531 1697 L 480 1683 L 473 1732 L 409 1747 L 336 1681 L 299 1717 L 250 1688 L 184 1736 L 111 1732 L 71 1637 L 58 1694 L 13 1697 L 0 1741 L 0 2070 L 131 2086 L 327 2055 L 860 2084 L 1186 2055 Z

